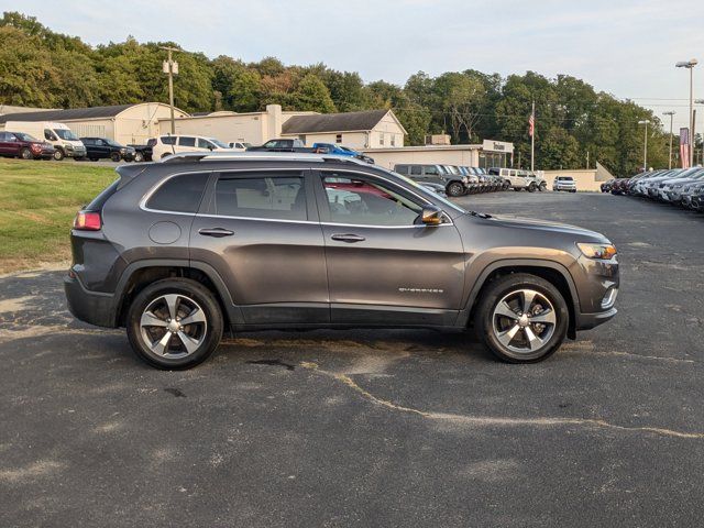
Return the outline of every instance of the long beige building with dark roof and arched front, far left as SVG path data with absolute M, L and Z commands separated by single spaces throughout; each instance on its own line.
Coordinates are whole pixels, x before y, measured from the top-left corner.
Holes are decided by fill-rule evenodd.
M 6 121 L 51 121 L 66 124 L 77 136 L 109 138 L 122 144 L 144 144 L 160 133 L 160 121 L 168 119 L 170 109 L 161 102 L 116 105 L 111 107 L 41 110 L 0 116 Z M 175 109 L 176 118 L 188 114 Z

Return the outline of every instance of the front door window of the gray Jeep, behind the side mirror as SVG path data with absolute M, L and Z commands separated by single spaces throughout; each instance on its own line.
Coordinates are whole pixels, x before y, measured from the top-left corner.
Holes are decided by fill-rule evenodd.
M 365 175 L 326 173 L 330 221 L 354 226 L 414 226 L 422 206 L 403 190 Z

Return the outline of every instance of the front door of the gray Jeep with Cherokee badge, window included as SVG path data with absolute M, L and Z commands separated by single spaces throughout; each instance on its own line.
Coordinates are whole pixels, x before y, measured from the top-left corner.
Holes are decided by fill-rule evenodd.
M 452 324 L 464 252 L 451 220 L 419 223 L 427 200 L 381 176 L 320 172 L 316 183 L 332 322 Z

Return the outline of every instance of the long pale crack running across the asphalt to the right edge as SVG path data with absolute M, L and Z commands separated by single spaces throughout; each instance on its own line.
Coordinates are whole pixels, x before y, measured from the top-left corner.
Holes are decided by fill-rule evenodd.
M 473 425 L 482 427 L 556 427 L 556 426 L 582 426 L 582 427 L 596 427 L 603 429 L 613 429 L 617 431 L 628 432 L 649 432 L 669 438 L 684 438 L 684 439 L 704 439 L 704 432 L 686 432 L 678 431 L 674 429 L 668 429 L 662 427 L 651 426 L 619 426 L 617 424 L 610 424 L 606 420 L 596 418 L 570 418 L 570 417 L 539 417 L 539 418 L 509 418 L 509 417 L 496 417 L 496 416 L 472 416 L 472 415 L 458 415 L 449 413 L 432 413 L 414 407 L 406 407 L 403 405 L 394 404 L 391 400 L 374 396 L 367 389 L 361 387 L 354 380 L 345 374 L 338 374 L 334 372 L 328 372 L 321 370 L 317 363 L 301 362 L 302 369 L 314 371 L 317 374 L 331 377 L 343 383 L 345 386 L 352 388 L 355 393 L 360 394 L 364 399 L 372 402 L 381 407 L 418 415 L 427 419 L 438 421 L 451 421 L 461 425 Z

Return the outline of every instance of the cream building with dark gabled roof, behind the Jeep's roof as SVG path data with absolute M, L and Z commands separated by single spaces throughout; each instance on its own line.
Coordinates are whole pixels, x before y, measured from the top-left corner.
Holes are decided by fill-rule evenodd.
M 406 129 L 392 110 L 296 116 L 284 122 L 282 138 L 298 138 L 306 145 L 339 143 L 350 148 L 403 147 Z

